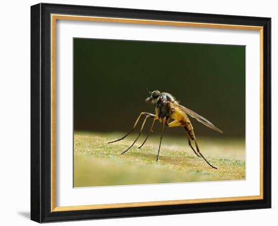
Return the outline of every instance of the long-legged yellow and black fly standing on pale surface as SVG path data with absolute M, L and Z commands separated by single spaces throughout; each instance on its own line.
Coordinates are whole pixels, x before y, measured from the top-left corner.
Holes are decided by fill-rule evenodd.
M 129 134 L 131 134 L 134 131 L 134 129 L 135 129 L 138 121 L 140 120 L 140 118 L 142 116 L 145 116 L 145 119 L 143 121 L 143 124 L 141 126 L 141 130 L 140 130 L 138 136 L 136 137 L 134 142 L 125 151 L 123 151 L 121 154 L 124 154 L 125 152 L 127 152 L 135 144 L 135 142 L 138 140 L 138 138 L 140 137 L 140 135 L 141 135 L 141 133 L 144 129 L 144 126 L 146 124 L 147 119 L 150 118 L 150 119 L 153 120 L 151 129 L 150 129 L 149 134 L 147 135 L 146 139 L 142 143 L 142 145 L 138 148 L 141 148 L 145 144 L 145 142 L 147 141 L 150 134 L 153 133 L 153 127 L 154 127 L 155 122 L 157 120 L 159 120 L 159 122 L 162 124 L 162 131 L 161 131 L 161 135 L 160 135 L 160 142 L 159 142 L 159 148 L 158 148 L 156 161 L 158 161 L 158 156 L 159 156 L 159 151 L 160 151 L 160 147 L 161 147 L 161 141 L 162 141 L 162 137 L 163 137 L 164 127 L 165 126 L 167 126 L 167 127 L 183 127 L 184 130 L 186 130 L 186 132 L 187 132 L 188 144 L 192 148 L 194 153 L 198 157 L 202 157 L 212 168 L 215 168 L 217 170 L 217 168 L 215 166 L 213 166 L 212 164 L 210 164 L 207 161 L 207 159 L 204 157 L 204 155 L 200 152 L 199 146 L 198 146 L 197 141 L 196 141 L 196 136 L 194 134 L 193 126 L 192 126 L 192 124 L 189 120 L 188 115 L 192 118 L 195 118 L 197 121 L 199 121 L 200 123 L 209 127 L 210 129 L 213 129 L 213 130 L 215 130 L 219 133 L 223 133 L 223 132 L 220 129 L 218 129 L 217 127 L 215 127 L 207 119 L 198 115 L 193 110 L 180 105 L 179 102 L 171 94 L 165 93 L 165 92 L 160 92 L 158 90 L 150 92 L 147 89 L 147 91 L 150 93 L 150 96 L 146 99 L 146 102 L 156 104 L 155 115 L 151 114 L 151 113 L 148 113 L 148 112 L 141 112 L 141 114 L 138 116 L 137 120 L 135 121 L 135 124 L 134 124 L 132 130 L 129 133 L 127 133 L 122 138 L 111 141 L 109 143 L 113 143 L 113 142 L 123 140 L 125 137 L 127 137 Z M 172 120 L 172 121 L 170 122 L 170 120 Z M 191 140 L 194 141 L 197 151 L 192 146 Z

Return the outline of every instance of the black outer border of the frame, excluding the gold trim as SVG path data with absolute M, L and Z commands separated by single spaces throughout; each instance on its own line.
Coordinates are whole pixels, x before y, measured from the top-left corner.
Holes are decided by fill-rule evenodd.
M 51 14 L 263 27 L 263 199 L 51 212 Z M 31 219 L 37 222 L 271 208 L 271 18 L 105 8 L 31 6 Z

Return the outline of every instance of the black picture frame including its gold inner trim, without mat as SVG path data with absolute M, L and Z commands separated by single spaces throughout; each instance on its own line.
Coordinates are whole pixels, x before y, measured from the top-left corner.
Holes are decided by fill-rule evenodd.
M 259 32 L 259 195 L 57 206 L 56 50 L 59 20 Z M 271 19 L 262 17 L 37 4 L 31 7 L 31 219 L 72 221 L 271 208 Z M 60 33 L 59 33 L 60 35 Z M 247 56 L 249 57 L 249 56 Z M 63 84 L 59 84 L 63 86 Z M 60 175 L 63 177 L 63 175 Z M 248 179 L 247 179 L 248 180 Z M 80 190 L 81 191 L 81 190 Z

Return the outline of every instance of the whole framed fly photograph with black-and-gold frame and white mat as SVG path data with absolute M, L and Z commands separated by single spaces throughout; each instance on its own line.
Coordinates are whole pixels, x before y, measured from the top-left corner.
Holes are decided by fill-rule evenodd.
M 270 18 L 31 7 L 31 219 L 271 207 Z

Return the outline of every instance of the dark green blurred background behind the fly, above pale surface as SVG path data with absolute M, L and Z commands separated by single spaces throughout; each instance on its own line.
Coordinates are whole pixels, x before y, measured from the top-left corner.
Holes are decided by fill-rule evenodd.
M 154 113 L 155 105 L 145 103 L 147 87 L 173 94 L 224 132 L 192 119 L 197 136 L 245 137 L 245 46 L 79 38 L 73 44 L 74 130 L 129 131 L 141 111 Z M 180 128 L 167 130 L 184 136 Z

